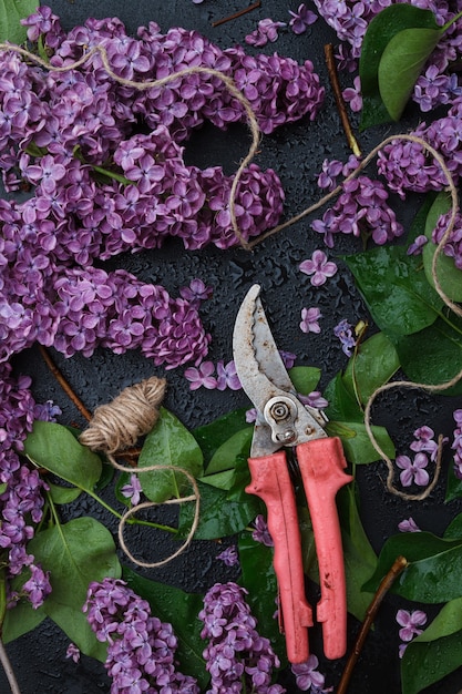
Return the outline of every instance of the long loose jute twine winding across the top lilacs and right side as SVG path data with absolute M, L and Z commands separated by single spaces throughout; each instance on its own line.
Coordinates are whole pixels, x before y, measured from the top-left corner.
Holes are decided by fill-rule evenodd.
M 431 274 L 432 274 L 434 287 L 435 287 L 438 294 L 440 295 L 440 297 L 442 298 L 444 305 L 448 308 L 450 308 L 450 310 L 452 310 L 458 316 L 462 316 L 461 307 L 458 304 L 455 304 L 451 299 L 451 297 L 449 297 L 445 294 L 445 292 L 443 290 L 443 288 L 441 286 L 440 279 L 438 277 L 438 261 L 439 261 L 439 257 L 440 257 L 440 255 L 441 255 L 441 253 L 442 253 L 442 251 L 444 248 L 444 245 L 446 244 L 446 242 L 448 242 L 448 239 L 449 239 L 449 237 L 450 237 L 450 235 L 451 235 L 451 233 L 452 233 L 452 231 L 454 228 L 455 215 L 456 215 L 458 210 L 459 210 L 458 191 L 455 188 L 454 181 L 452 178 L 451 172 L 449 171 L 448 166 L 445 165 L 445 162 L 444 162 L 443 157 L 441 156 L 441 154 L 434 147 L 432 147 L 422 137 L 419 137 L 419 136 L 413 135 L 413 134 L 405 134 L 405 133 L 400 133 L 400 134 L 390 135 L 389 137 L 386 137 L 382 142 L 380 142 L 362 160 L 362 162 L 358 165 L 358 167 L 349 176 L 347 176 L 343 180 L 343 182 L 340 185 L 338 185 L 333 191 L 331 191 L 330 193 L 328 193 L 327 195 L 321 197 L 315 204 L 306 207 L 299 214 L 290 217 L 289 220 L 287 220 L 286 222 L 275 226 L 274 228 L 268 229 L 264 234 L 260 234 L 260 236 L 258 236 L 254 241 L 248 242 L 248 241 L 246 241 L 244 238 L 244 236 L 243 236 L 243 234 L 242 234 L 242 232 L 239 229 L 239 225 L 238 225 L 237 216 L 236 216 L 235 200 L 236 200 L 237 186 L 239 184 L 239 181 L 242 178 L 244 170 L 253 161 L 253 159 L 255 157 L 255 155 L 256 155 L 256 153 L 258 151 L 261 132 L 260 132 L 260 129 L 259 129 L 259 125 L 258 125 L 257 116 L 256 116 L 256 114 L 255 114 L 255 112 L 254 112 L 254 110 L 251 108 L 251 104 L 246 99 L 246 96 L 239 91 L 239 89 L 236 86 L 236 83 L 234 82 L 234 80 L 232 78 L 229 78 L 228 75 L 224 74 L 223 72 L 220 72 L 218 70 L 214 70 L 212 68 L 191 67 L 191 68 L 187 68 L 185 70 L 181 70 L 178 72 L 172 73 L 172 74 L 170 74 L 170 75 L 167 75 L 165 78 L 162 78 L 160 80 L 151 80 L 151 81 L 143 81 L 143 82 L 137 82 L 137 81 L 133 81 L 133 80 L 126 80 L 126 79 L 121 78 L 120 75 L 117 75 L 112 70 L 112 68 L 110 65 L 110 62 L 109 62 L 109 59 L 107 59 L 106 51 L 105 51 L 104 47 L 102 47 L 102 45 L 93 47 L 90 51 L 84 53 L 78 61 L 75 61 L 72 64 L 66 64 L 66 65 L 63 65 L 63 67 L 51 65 L 49 62 L 44 61 L 39 55 L 35 55 L 34 53 L 31 53 L 30 51 L 28 51 L 28 50 L 25 50 L 25 49 L 23 49 L 23 48 L 21 48 L 19 45 L 14 45 L 14 44 L 10 44 L 10 43 L 0 43 L 0 50 L 16 51 L 16 52 L 20 53 L 27 60 L 35 62 L 35 63 L 42 65 L 44 69 L 53 70 L 55 72 L 66 72 L 69 70 L 74 70 L 74 69 L 79 68 L 80 65 L 84 64 L 93 55 L 99 53 L 100 57 L 101 57 L 101 61 L 102 61 L 102 63 L 104 65 L 104 69 L 106 70 L 107 74 L 113 80 L 115 80 L 120 84 L 124 84 L 125 86 L 131 86 L 131 88 L 134 88 L 134 89 L 137 89 L 137 90 L 162 88 L 165 84 L 168 84 L 170 82 L 172 82 L 174 80 L 177 80 L 178 78 L 186 76 L 186 75 L 189 75 L 189 74 L 207 74 L 207 75 L 211 75 L 211 76 L 216 76 L 219 80 L 222 80 L 222 82 L 224 83 L 226 89 L 229 91 L 229 93 L 233 94 L 233 96 L 235 99 L 237 99 L 237 101 L 243 105 L 243 108 L 245 110 L 245 113 L 246 113 L 248 127 L 250 130 L 250 135 L 251 135 L 251 142 L 250 142 L 248 152 L 247 152 L 246 156 L 243 159 L 242 163 L 239 164 L 239 166 L 238 166 L 238 169 L 236 171 L 236 174 L 235 174 L 235 177 L 234 177 L 234 181 L 233 181 L 233 185 L 232 185 L 232 188 L 230 188 L 230 194 L 229 194 L 229 214 L 230 214 L 230 221 L 232 221 L 233 231 L 234 231 L 236 237 L 238 238 L 242 247 L 247 249 L 247 251 L 251 251 L 257 244 L 261 243 L 265 238 L 268 238 L 269 236 L 273 236 L 274 234 L 277 234 L 277 233 L 281 232 L 285 228 L 287 228 L 289 226 L 292 226 L 294 224 L 296 224 L 297 222 L 301 221 L 302 218 L 305 218 L 306 216 L 308 216 L 312 212 L 315 212 L 315 211 L 319 210 L 320 207 L 322 207 L 324 205 L 326 205 L 329 201 L 333 200 L 337 195 L 339 195 L 339 193 L 341 193 L 343 184 L 346 182 L 355 178 L 357 175 L 359 175 L 359 173 L 370 163 L 370 161 L 378 154 L 378 152 L 383 146 L 386 146 L 387 144 L 389 144 L 389 143 L 396 141 L 396 140 L 411 141 L 411 142 L 415 142 L 415 143 L 420 144 L 424 149 L 424 151 L 427 151 L 428 154 L 433 156 L 434 160 L 441 166 L 441 170 L 443 171 L 443 173 L 444 173 L 444 175 L 445 175 L 445 177 L 448 180 L 448 190 L 451 193 L 451 201 L 452 201 L 450 221 L 449 221 L 448 227 L 446 227 L 446 229 L 445 229 L 445 232 L 444 232 L 440 243 L 438 244 L 438 246 L 435 248 L 435 253 L 434 253 L 433 261 L 432 261 Z M 399 497 L 402 497 L 405 500 L 422 500 L 422 499 L 427 498 L 431 493 L 431 491 L 433 490 L 434 486 L 438 482 L 440 470 L 441 470 L 442 438 L 440 437 L 440 440 L 439 440 L 439 452 L 438 452 L 438 457 L 437 457 L 437 465 L 435 465 L 433 480 L 427 487 L 427 489 L 422 493 L 420 493 L 420 494 L 408 494 L 408 493 L 405 493 L 403 491 L 400 491 L 400 490 L 396 489 L 394 486 L 393 486 L 393 478 L 394 478 L 394 467 L 393 467 L 393 463 L 392 463 L 391 459 L 382 450 L 382 448 L 380 447 L 379 442 L 377 441 L 377 439 L 376 439 L 376 437 L 374 437 L 374 435 L 372 432 L 372 428 L 371 428 L 371 407 L 372 407 L 373 401 L 376 400 L 376 398 L 379 395 L 381 395 L 382 392 L 384 392 L 386 390 L 389 390 L 391 388 L 419 388 L 419 389 L 427 390 L 427 391 L 432 392 L 432 394 L 442 392 L 442 391 L 446 390 L 448 388 L 451 388 L 452 386 L 458 384 L 461 378 L 462 378 L 462 369 L 452 379 L 450 379 L 450 380 L 448 380 L 446 382 L 443 382 L 443 384 L 429 385 L 429 384 L 419 384 L 419 382 L 407 381 L 407 380 L 397 380 L 397 381 L 392 381 L 392 382 L 386 384 L 384 386 L 381 386 L 380 388 L 378 388 L 370 396 L 369 401 L 368 401 L 368 404 L 366 406 L 366 409 L 365 409 L 366 430 L 368 432 L 368 436 L 370 438 L 370 441 L 371 441 L 373 448 L 377 450 L 379 456 L 381 456 L 381 458 L 387 463 L 387 467 L 388 467 L 387 489 L 391 493 L 397 494 Z M 177 468 L 175 468 L 175 469 L 177 470 Z M 133 510 L 132 510 L 132 512 L 133 512 Z M 150 564 L 150 565 L 152 565 L 152 564 Z

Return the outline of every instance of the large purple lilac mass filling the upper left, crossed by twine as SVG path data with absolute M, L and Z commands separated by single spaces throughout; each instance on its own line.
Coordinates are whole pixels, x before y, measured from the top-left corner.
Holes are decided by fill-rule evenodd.
M 312 63 L 223 51 L 195 31 L 162 34 L 155 23 L 133 39 L 115 18 L 89 19 L 65 33 L 48 7 L 23 23 L 50 64 L 69 70 L 33 65 L 13 50 L 0 54 L 0 169 L 8 191 L 33 187 L 23 203 L 0 201 L 0 359 L 37 340 L 66 356 L 101 345 L 116 353 L 138 347 L 167 368 L 198 363 L 209 336 L 197 296 L 175 300 L 162 287 L 93 263 L 156 248 L 167 236 L 186 248 L 236 245 L 233 178 L 218 166 L 187 166 L 181 143 L 206 120 L 226 129 L 246 114 L 218 76 L 191 73 L 143 90 L 130 81 L 196 67 L 220 71 L 269 133 L 315 118 L 324 89 Z M 71 67 L 93 48 L 105 51 L 127 84 L 110 78 L 99 52 Z M 274 226 L 283 201 L 275 172 L 250 164 L 235 200 L 243 236 Z

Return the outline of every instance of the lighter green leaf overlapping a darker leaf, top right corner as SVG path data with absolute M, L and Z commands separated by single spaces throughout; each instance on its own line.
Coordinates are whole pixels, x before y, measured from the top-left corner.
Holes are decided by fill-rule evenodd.
M 379 90 L 387 111 L 399 121 L 422 68 L 444 30 L 404 29 L 387 44 L 379 64 Z

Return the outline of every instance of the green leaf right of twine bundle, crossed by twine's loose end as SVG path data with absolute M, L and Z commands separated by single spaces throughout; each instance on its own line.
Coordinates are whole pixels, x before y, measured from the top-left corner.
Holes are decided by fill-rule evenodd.
M 203 455 L 194 436 L 164 407 L 147 435 L 138 458 L 138 468 L 172 466 L 188 470 L 193 477 L 202 472 Z M 162 503 L 172 497 L 189 492 L 191 484 L 181 472 L 172 470 L 140 471 L 140 482 L 146 497 Z

